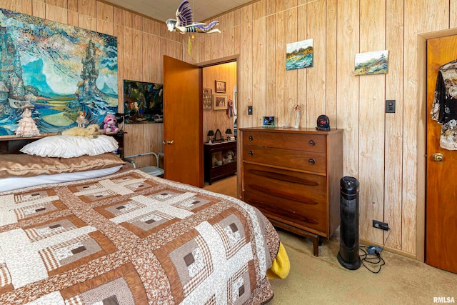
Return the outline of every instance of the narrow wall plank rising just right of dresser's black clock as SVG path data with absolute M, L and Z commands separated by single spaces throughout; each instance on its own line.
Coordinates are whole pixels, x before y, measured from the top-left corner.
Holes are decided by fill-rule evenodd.
M 336 29 L 338 6 L 337 0 L 326 1 L 326 115 L 330 119 L 331 128 L 338 128 L 336 125 L 336 80 L 338 78 L 336 61 Z M 316 118 L 317 121 L 317 118 Z M 316 121 L 314 124 L 316 124 Z M 310 124 L 313 126 L 313 124 Z

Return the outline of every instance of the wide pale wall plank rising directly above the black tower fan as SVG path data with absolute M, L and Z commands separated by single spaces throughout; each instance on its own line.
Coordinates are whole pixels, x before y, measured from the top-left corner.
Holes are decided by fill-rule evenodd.
M 343 173 L 358 178 L 358 78 L 354 76 L 359 50 L 358 1 L 338 0 L 337 122 L 343 132 Z

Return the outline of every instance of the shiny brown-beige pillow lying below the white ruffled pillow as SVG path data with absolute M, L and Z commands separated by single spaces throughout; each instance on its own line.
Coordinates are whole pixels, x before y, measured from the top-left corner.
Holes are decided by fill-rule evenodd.
M 50 158 L 28 154 L 0 155 L 0 178 L 10 176 L 38 176 L 42 174 L 73 173 L 92 169 L 106 169 L 125 162 L 113 153 L 77 158 Z

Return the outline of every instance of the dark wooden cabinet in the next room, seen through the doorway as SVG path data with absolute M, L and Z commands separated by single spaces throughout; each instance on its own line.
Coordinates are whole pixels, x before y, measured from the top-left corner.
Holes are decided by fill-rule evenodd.
M 236 174 L 236 141 L 204 144 L 205 181 L 213 181 Z

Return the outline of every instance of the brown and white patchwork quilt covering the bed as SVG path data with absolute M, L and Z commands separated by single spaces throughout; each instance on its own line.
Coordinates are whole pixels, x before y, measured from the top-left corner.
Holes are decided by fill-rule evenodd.
M 263 304 L 279 247 L 238 199 L 133 169 L 0 193 L 0 304 Z

